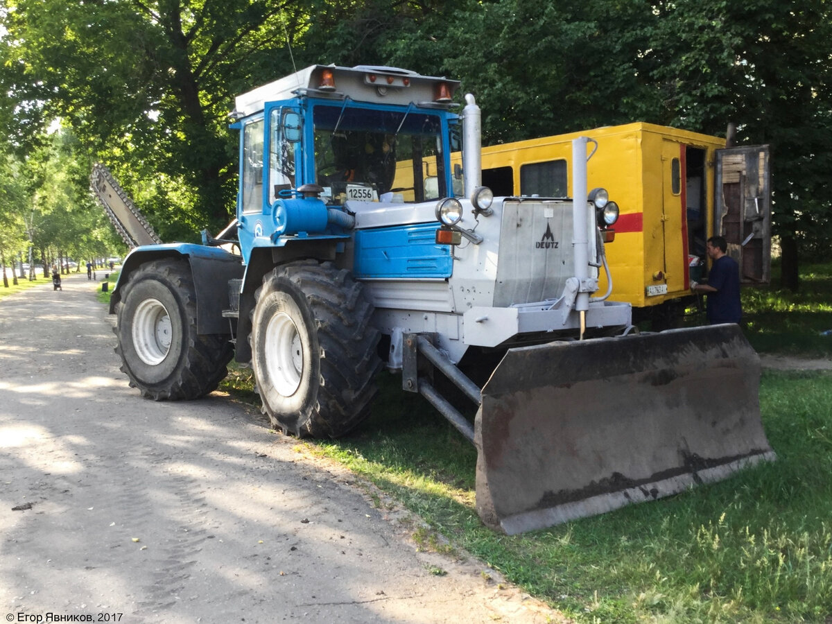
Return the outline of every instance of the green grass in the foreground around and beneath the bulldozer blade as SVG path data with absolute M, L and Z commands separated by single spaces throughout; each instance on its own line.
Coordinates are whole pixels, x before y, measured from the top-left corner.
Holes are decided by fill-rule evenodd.
M 358 433 L 306 443 L 577 622 L 825 622 L 832 615 L 832 374 L 766 371 L 775 463 L 597 518 L 507 537 L 473 508 L 476 453 L 381 377 Z M 417 530 L 418 542 L 438 544 Z

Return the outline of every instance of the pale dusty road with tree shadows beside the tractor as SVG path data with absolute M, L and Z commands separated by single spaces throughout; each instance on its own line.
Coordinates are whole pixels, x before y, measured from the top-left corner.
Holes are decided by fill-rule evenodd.
M 257 410 L 141 399 L 96 290 L 0 300 L 0 622 L 561 621 L 417 552 Z

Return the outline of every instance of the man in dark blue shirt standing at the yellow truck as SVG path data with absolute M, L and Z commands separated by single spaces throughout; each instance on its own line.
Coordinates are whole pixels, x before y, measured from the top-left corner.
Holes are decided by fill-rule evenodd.
M 706 316 L 708 323 L 739 323 L 742 317 L 740 306 L 740 267 L 726 254 L 728 244 L 722 236 L 711 236 L 706 244 L 708 257 L 713 260 L 707 284 L 691 281 L 693 292 L 706 293 L 708 302 Z

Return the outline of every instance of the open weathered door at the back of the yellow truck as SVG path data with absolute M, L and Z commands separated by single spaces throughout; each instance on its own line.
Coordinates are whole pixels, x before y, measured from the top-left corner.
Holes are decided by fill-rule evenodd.
M 744 284 L 771 279 L 770 183 L 769 146 L 716 151 L 713 231 L 725 237 Z

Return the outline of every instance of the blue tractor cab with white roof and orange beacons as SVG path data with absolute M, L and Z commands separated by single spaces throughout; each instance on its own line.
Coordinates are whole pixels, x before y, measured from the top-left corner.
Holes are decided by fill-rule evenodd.
M 280 237 L 338 237 L 328 210 L 451 194 L 458 82 L 391 67 L 313 66 L 236 98 L 246 261 Z M 248 250 L 248 251 L 247 251 Z

